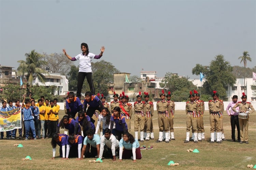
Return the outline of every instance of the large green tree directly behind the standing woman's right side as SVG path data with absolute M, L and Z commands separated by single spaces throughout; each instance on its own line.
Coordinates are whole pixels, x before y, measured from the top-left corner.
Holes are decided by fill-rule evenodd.
M 103 95 L 108 95 L 107 83 L 114 82 L 114 73 L 120 72 L 110 62 L 101 60 L 96 63 L 91 63 L 93 71 L 93 82 L 95 86 L 95 92 L 99 92 Z M 88 87 L 88 86 L 87 86 Z

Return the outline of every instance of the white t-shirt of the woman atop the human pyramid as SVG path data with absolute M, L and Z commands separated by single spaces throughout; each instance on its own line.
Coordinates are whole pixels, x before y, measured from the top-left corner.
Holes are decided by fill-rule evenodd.
M 89 53 L 83 55 L 83 53 L 75 56 L 76 60 L 79 60 L 79 72 L 92 72 L 91 70 L 91 59 L 95 57 L 95 54 Z

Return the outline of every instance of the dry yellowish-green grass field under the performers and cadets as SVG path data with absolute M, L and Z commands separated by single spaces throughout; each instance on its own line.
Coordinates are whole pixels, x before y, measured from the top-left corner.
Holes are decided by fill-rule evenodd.
M 60 118 L 64 115 L 60 111 Z M 158 139 L 157 114 L 154 119 L 155 140 Z M 186 114 L 185 111 L 175 111 L 174 135 L 176 140 L 170 143 L 156 143 L 155 140 L 140 143 L 145 146 L 153 146 L 152 150 L 142 150 L 142 159 L 137 163 L 132 160 L 112 162 L 111 159 L 103 159 L 103 163 L 89 163 L 89 158 L 76 160 L 70 158 L 61 160 L 56 157 L 52 160 L 51 139 L 24 141 L 0 140 L 0 169 L 248 169 L 248 164 L 256 164 L 256 114 L 250 115 L 249 120 L 249 144 L 230 142 L 231 127 L 230 118 L 224 113 L 224 134 L 226 141 L 221 144 L 210 143 L 210 124 L 208 111 L 204 115 L 205 141 L 184 143 L 186 138 Z M 133 128 L 133 119 L 132 119 Z M 132 130 L 133 132 L 133 130 Z M 134 135 L 134 132 L 133 132 Z M 236 133 L 237 135 L 237 133 Z M 191 136 L 191 134 L 190 134 Z M 237 138 L 237 136 L 236 136 Z M 21 143 L 24 147 L 14 147 L 13 144 Z M 58 146 L 56 156 L 58 153 Z M 198 149 L 199 153 L 187 152 L 187 149 Z M 32 160 L 24 160 L 26 156 Z M 172 160 L 179 166 L 168 166 Z

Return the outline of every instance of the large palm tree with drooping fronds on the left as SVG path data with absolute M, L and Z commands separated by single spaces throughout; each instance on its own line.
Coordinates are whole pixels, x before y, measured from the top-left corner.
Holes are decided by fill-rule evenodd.
M 27 73 L 27 81 L 30 85 L 32 85 L 33 75 L 37 75 L 39 80 L 43 83 L 44 76 L 42 73 L 47 73 L 45 70 L 41 68 L 43 64 L 46 64 L 45 61 L 41 60 L 42 56 L 35 50 L 32 50 L 30 53 L 26 53 L 26 61 L 19 60 L 19 67 L 17 68 L 18 74 L 23 75 Z

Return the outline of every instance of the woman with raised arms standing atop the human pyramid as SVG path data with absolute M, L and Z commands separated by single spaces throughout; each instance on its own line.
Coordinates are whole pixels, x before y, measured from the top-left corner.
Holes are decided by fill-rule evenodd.
M 77 91 L 76 91 L 77 97 L 81 96 L 82 86 L 83 86 L 85 77 L 90 86 L 91 92 L 95 94 L 95 88 L 93 85 L 93 73 L 91 70 L 91 59 L 92 58 L 100 59 L 100 57 L 103 55 L 105 47 L 104 46 L 101 47 L 100 49 L 101 52 L 99 55 L 90 53 L 88 45 L 86 43 L 81 44 L 81 50 L 82 50 L 82 53 L 78 54 L 75 57 L 71 57 L 70 55 L 68 55 L 65 49 L 62 50 L 63 53 L 69 58 L 69 60 L 71 61 L 79 60 L 79 72 L 77 77 Z

